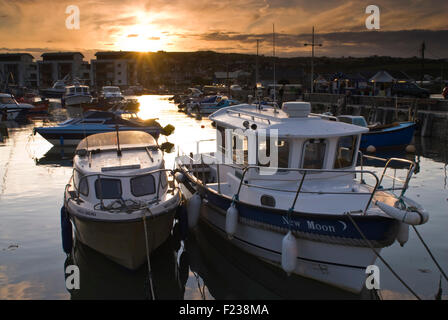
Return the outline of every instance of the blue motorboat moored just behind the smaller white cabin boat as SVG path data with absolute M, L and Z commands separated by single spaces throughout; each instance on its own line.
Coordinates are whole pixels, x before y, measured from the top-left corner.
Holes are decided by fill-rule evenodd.
M 52 127 L 34 128 L 55 146 L 75 146 L 87 136 L 96 133 L 113 132 L 117 125 L 120 131 L 139 130 L 151 134 L 158 139 L 162 127 L 154 119 L 136 121 L 123 119 L 119 114 L 107 111 L 88 111 L 83 117 L 69 119 Z

